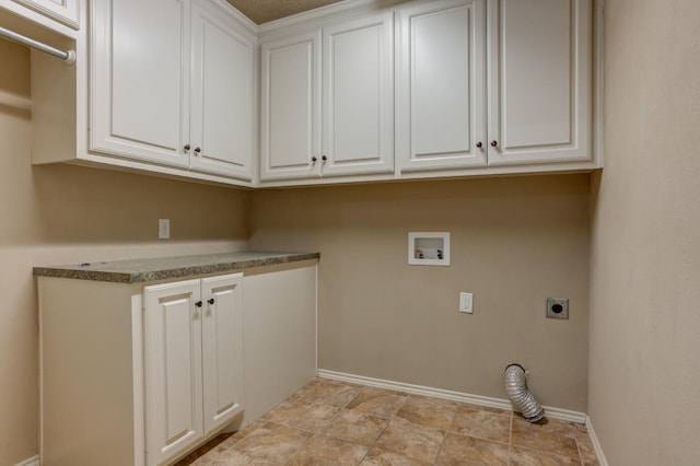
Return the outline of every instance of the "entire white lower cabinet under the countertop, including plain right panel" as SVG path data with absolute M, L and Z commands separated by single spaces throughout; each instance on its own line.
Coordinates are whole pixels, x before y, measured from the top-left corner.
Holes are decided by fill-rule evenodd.
M 165 466 L 257 420 L 316 376 L 317 272 L 38 277 L 40 463 Z

